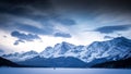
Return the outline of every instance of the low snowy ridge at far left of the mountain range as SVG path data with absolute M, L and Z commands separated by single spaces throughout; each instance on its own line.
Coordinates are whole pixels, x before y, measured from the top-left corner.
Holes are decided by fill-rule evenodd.
M 32 59 L 36 55 L 38 55 L 38 53 L 32 50 L 32 51 L 22 52 L 22 53 L 15 52 L 10 54 L 3 54 L 2 57 L 13 62 L 17 62 L 17 61 L 25 61 L 27 59 Z

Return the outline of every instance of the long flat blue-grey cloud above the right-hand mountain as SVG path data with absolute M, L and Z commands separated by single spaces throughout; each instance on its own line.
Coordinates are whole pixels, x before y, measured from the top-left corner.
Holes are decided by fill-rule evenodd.
M 110 34 L 115 32 L 128 30 L 129 28 L 131 28 L 131 25 L 116 25 L 116 26 L 103 26 L 94 30 L 103 34 Z

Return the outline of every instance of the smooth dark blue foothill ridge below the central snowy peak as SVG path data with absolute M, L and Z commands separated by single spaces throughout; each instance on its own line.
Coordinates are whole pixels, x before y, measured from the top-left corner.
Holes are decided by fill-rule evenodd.
M 37 67 L 86 67 L 86 63 L 73 57 L 40 58 L 35 57 L 26 61 L 17 62 L 21 65 Z

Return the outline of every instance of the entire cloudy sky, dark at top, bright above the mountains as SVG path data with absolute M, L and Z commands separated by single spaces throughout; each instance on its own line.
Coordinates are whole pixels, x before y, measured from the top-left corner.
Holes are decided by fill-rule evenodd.
M 131 39 L 130 0 L 0 0 L 0 50 Z

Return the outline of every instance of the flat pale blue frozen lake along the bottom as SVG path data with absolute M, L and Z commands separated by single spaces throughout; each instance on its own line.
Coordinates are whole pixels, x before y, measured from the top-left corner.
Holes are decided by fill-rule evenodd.
M 131 74 L 131 70 L 0 67 L 0 74 Z

